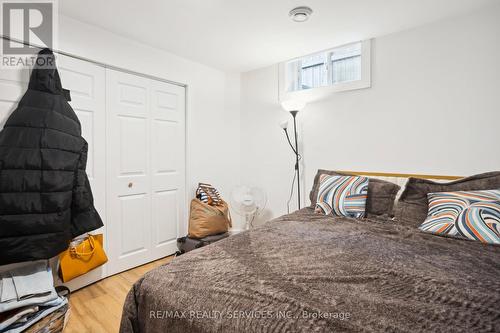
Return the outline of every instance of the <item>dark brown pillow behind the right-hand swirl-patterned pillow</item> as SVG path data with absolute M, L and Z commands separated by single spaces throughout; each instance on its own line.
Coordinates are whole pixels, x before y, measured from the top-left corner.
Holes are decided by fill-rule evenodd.
M 482 191 L 500 188 L 500 171 L 487 172 L 448 183 L 408 178 L 395 208 L 396 220 L 418 227 L 427 216 L 427 194 L 436 192 Z

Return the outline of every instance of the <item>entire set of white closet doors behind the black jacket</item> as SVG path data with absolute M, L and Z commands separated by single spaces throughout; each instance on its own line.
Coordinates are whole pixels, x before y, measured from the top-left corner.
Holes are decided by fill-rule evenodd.
M 96 232 L 109 258 L 67 284 L 78 289 L 176 251 L 187 207 L 185 88 L 63 55 L 57 64 L 89 144 L 87 174 L 104 222 Z M 29 74 L 0 71 L 0 130 Z

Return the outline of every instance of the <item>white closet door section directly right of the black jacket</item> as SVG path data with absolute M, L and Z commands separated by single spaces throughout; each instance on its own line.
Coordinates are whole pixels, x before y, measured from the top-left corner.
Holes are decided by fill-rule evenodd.
M 92 187 L 94 205 L 101 216 L 104 227 L 92 233 L 106 234 L 106 103 L 105 69 L 101 66 L 66 57 L 57 56 L 57 64 L 63 88 L 70 90 L 69 104 L 82 125 L 82 136 L 88 142 L 87 176 Z M 75 290 L 106 276 L 106 266 L 101 266 L 78 277 L 66 285 Z

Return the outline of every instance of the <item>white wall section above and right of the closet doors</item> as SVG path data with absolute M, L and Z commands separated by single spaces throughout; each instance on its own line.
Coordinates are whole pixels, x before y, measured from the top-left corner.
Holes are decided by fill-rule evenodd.
M 181 38 L 181 37 L 179 37 Z M 214 184 L 229 198 L 239 183 L 239 74 L 224 73 L 60 16 L 58 49 L 188 85 L 187 182 Z M 64 85 L 64 82 L 63 82 Z M 181 230 L 181 234 L 187 232 Z

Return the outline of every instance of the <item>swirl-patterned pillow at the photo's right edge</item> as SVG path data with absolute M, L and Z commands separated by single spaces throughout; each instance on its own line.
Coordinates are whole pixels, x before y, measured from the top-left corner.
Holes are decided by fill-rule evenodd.
M 500 190 L 429 193 L 420 230 L 500 244 Z

